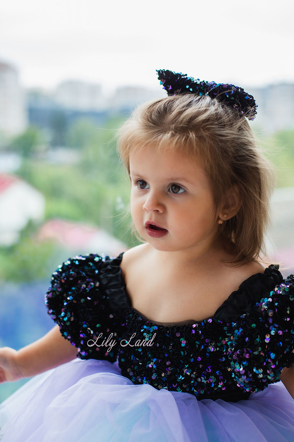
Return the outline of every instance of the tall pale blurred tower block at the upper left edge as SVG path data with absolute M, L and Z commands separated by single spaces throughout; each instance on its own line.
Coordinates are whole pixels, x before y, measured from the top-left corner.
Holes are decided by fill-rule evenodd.
M 27 111 L 24 91 L 14 66 L 0 61 L 0 131 L 17 135 L 26 129 Z

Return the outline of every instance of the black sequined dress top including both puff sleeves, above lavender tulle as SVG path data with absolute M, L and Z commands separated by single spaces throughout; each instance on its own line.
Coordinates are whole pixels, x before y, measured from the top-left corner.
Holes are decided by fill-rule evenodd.
M 236 401 L 294 363 L 294 275 L 247 278 L 211 318 L 154 323 L 130 305 L 118 257 L 75 256 L 52 274 L 48 314 L 81 359 L 118 359 L 134 384 Z

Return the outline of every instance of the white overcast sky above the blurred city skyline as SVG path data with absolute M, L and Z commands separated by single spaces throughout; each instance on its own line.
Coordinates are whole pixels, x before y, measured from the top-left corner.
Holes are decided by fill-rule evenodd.
M 19 69 L 24 86 L 47 89 L 65 79 L 100 83 L 105 91 L 132 84 L 156 89 L 156 69 L 243 88 L 294 82 L 293 4 L 3 1 L 0 60 Z

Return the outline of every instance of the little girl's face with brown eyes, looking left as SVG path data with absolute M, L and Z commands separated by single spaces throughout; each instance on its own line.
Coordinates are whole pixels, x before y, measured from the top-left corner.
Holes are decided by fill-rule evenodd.
M 215 215 L 210 183 L 197 160 L 168 149 L 158 153 L 157 149 L 133 149 L 130 179 L 134 225 L 153 248 L 198 255 L 215 245 L 219 214 Z M 150 236 L 146 221 L 167 232 Z

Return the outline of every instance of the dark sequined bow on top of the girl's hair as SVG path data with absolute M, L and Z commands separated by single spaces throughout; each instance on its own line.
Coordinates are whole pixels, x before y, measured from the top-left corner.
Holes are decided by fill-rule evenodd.
M 215 83 L 215 81 L 194 81 L 182 72 L 173 72 L 166 69 L 156 69 L 158 80 L 163 84 L 167 95 L 197 94 L 208 95 L 240 112 L 249 120 L 254 120 L 258 107 L 253 96 L 247 94 L 243 88 L 234 84 Z

